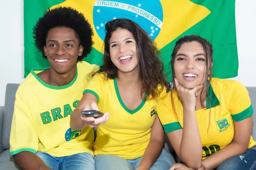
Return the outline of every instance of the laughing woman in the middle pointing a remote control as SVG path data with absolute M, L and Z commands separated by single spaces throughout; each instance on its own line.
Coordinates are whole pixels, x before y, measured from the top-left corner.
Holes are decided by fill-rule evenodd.
M 159 51 L 149 35 L 128 19 L 105 25 L 104 64 L 85 87 L 70 126 L 97 127 L 96 170 L 169 170 L 164 131 L 155 114 L 157 101 L 170 90 Z M 99 110 L 100 118 L 81 111 Z

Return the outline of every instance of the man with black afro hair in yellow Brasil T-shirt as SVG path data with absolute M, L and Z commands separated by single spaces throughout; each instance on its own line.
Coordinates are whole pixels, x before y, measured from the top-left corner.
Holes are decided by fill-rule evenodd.
M 81 61 L 92 50 L 92 28 L 83 14 L 59 7 L 45 12 L 33 34 L 50 66 L 32 69 L 17 90 L 10 156 L 24 170 L 95 170 L 93 129 L 70 129 L 70 114 L 97 67 Z

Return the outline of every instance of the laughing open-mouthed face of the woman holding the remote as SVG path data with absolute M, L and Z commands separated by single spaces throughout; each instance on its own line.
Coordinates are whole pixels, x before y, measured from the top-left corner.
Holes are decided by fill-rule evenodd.
M 109 40 L 111 61 L 118 71 L 128 73 L 137 69 L 138 57 L 133 34 L 123 28 L 113 31 Z

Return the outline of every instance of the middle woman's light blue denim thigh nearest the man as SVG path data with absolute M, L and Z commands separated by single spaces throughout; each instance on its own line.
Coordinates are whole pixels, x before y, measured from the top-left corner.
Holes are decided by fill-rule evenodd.
M 133 170 L 124 158 L 113 155 L 97 155 L 94 157 L 96 170 Z

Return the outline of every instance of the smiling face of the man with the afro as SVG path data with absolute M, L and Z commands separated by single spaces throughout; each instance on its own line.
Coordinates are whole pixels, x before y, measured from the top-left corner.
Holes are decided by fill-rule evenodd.
M 71 28 L 57 27 L 49 30 L 44 54 L 58 74 L 66 74 L 76 69 L 78 56 L 83 53 L 83 46 L 79 45 L 75 31 Z

